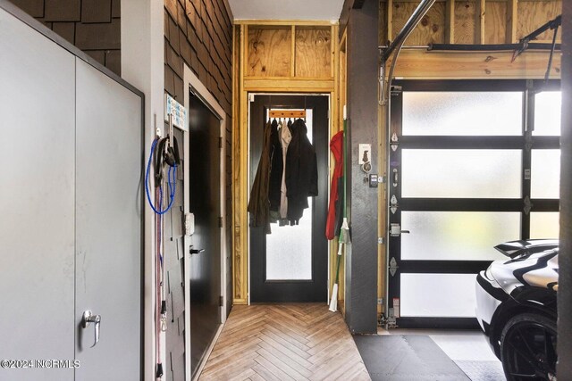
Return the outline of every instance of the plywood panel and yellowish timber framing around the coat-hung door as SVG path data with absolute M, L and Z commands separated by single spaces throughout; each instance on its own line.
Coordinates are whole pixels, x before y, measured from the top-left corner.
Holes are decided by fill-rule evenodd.
M 237 21 L 233 55 L 233 302 L 248 303 L 248 93 L 331 95 L 338 120 L 338 26 L 329 21 Z

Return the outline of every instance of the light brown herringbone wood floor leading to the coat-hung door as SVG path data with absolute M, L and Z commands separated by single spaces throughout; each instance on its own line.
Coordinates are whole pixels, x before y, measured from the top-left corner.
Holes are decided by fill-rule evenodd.
M 340 312 L 322 303 L 234 306 L 200 380 L 369 380 Z

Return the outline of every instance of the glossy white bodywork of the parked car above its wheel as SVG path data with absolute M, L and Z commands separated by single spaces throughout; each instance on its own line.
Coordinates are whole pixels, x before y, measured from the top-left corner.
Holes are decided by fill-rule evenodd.
M 524 250 L 509 261 L 493 261 L 490 274 L 507 294 L 521 286 L 535 286 L 558 291 L 559 248 Z

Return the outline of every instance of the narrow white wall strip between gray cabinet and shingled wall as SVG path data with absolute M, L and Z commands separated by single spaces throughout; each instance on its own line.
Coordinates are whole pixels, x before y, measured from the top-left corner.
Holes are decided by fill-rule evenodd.
M 122 0 L 122 78 L 145 94 L 145 157 L 156 135 L 163 132 L 164 115 L 164 2 L 161 0 Z M 154 215 L 145 208 L 144 270 L 144 379 L 155 380 L 156 372 L 156 271 Z M 164 335 L 161 335 L 161 362 L 164 367 Z M 165 369 L 165 368 L 164 368 Z

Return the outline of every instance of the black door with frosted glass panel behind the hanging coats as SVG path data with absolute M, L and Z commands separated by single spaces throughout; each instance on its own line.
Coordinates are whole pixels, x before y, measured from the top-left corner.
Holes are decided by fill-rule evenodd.
M 250 103 L 250 189 L 272 109 L 306 110 L 308 138 L 315 147 L 318 169 L 318 195 L 310 197 L 298 226 L 273 223 L 270 235 L 265 234 L 265 228 L 250 228 L 251 302 L 327 300 L 328 101 L 324 95 L 256 95 Z

